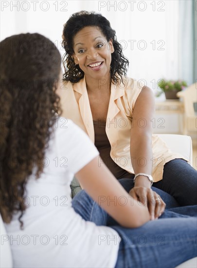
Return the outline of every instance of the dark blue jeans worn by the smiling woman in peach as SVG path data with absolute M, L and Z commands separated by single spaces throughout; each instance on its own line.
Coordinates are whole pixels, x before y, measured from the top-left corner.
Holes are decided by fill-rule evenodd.
M 119 182 L 127 192 L 134 187 L 132 178 Z M 153 183 L 152 190 L 161 196 L 166 209 L 197 205 L 197 171 L 183 159 L 171 160 L 164 165 L 163 179 Z

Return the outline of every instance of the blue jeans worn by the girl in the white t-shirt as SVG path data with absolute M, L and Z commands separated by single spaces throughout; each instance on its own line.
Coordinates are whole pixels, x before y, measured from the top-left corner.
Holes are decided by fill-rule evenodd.
M 72 206 L 83 219 L 119 233 L 115 268 L 173 268 L 197 256 L 197 206 L 165 210 L 158 220 L 133 229 L 112 226 L 111 217 L 84 190 L 73 198 Z

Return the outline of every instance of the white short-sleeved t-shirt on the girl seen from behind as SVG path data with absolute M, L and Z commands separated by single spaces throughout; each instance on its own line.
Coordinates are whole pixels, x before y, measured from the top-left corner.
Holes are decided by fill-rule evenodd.
M 72 208 L 70 183 L 74 173 L 98 151 L 71 120 L 59 117 L 43 159 L 39 179 L 31 175 L 24 203 L 28 208 L 6 224 L 14 267 L 114 267 L 120 238 L 105 226 L 85 221 Z

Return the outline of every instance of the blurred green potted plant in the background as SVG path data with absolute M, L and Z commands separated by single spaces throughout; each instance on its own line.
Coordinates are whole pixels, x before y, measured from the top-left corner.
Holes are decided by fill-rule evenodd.
M 183 90 L 187 83 L 183 80 L 165 80 L 159 79 L 158 86 L 160 91 L 158 92 L 157 96 L 160 96 L 162 92 L 165 94 L 166 99 L 179 99 L 177 93 Z

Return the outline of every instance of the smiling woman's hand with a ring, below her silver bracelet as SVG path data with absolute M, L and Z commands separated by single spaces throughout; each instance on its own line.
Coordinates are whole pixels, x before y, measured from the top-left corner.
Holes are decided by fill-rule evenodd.
M 157 219 L 165 210 L 165 203 L 161 196 L 149 187 L 135 186 L 129 194 L 140 201 L 143 206 L 147 206 L 151 220 Z

